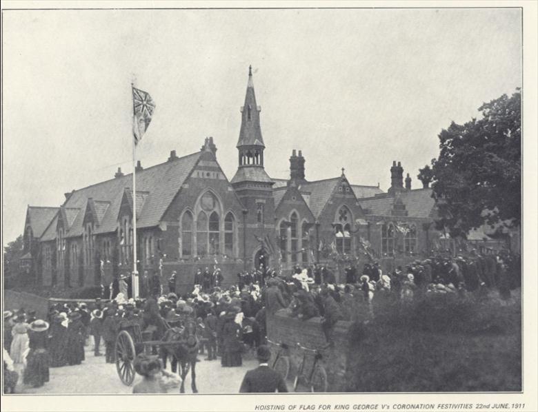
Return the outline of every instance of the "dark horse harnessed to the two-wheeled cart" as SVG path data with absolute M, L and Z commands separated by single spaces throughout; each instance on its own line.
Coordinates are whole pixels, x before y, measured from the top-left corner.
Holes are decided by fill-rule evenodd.
M 199 340 L 196 334 L 196 321 L 192 318 L 183 320 L 180 327 L 171 327 L 168 325 L 162 338 L 161 359 L 166 363 L 168 357 L 177 360 L 180 367 L 181 387 L 180 393 L 185 393 L 185 378 L 190 369 L 190 387 L 192 393 L 198 393 L 196 387 L 196 362 L 199 348 Z M 166 344 L 166 342 L 179 342 Z

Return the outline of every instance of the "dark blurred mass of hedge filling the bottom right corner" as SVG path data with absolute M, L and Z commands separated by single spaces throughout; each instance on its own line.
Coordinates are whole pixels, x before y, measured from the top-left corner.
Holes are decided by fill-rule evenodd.
M 377 302 L 350 333 L 346 391 L 521 391 L 521 304 L 422 296 Z

